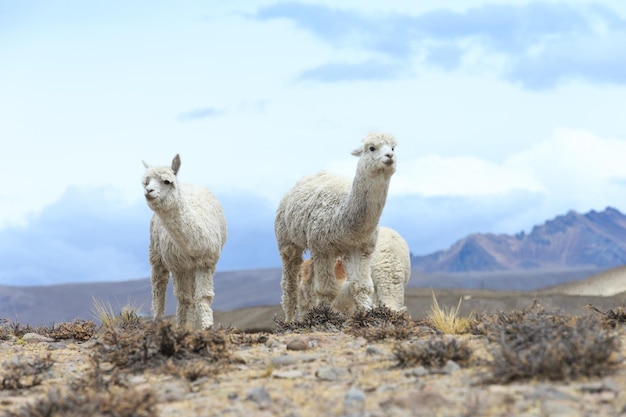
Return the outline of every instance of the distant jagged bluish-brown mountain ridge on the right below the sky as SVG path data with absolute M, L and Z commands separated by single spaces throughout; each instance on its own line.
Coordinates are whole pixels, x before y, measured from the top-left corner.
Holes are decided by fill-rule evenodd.
M 626 264 L 626 216 L 611 207 L 587 214 L 570 211 L 529 234 L 472 234 L 411 261 L 430 273 L 612 268 Z

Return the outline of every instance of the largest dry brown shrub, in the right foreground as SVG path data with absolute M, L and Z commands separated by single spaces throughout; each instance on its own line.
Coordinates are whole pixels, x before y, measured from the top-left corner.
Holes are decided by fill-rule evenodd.
M 486 325 L 496 382 L 603 376 L 617 365 L 620 341 L 594 316 L 546 312 L 536 302 Z

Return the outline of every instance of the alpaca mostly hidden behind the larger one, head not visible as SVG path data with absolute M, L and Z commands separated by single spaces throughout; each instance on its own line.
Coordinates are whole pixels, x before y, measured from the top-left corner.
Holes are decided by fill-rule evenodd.
M 310 276 L 311 259 L 302 263 L 299 275 L 298 313 L 306 313 L 312 307 L 313 287 Z M 404 288 L 411 276 L 411 253 L 409 245 L 398 232 L 388 227 L 378 228 L 378 240 L 372 253 L 372 282 L 374 305 L 382 304 L 395 311 L 405 311 Z M 342 311 L 354 308 L 350 288 L 345 285 L 346 274 L 341 258 L 335 263 L 335 278 L 340 286 L 334 304 Z

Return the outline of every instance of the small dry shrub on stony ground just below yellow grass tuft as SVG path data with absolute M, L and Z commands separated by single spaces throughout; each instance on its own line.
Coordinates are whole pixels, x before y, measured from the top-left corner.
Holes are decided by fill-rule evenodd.
M 402 368 L 417 365 L 441 367 L 449 360 L 465 365 L 471 353 L 466 341 L 452 336 L 431 336 L 414 343 L 397 345 L 393 351 L 397 366 Z

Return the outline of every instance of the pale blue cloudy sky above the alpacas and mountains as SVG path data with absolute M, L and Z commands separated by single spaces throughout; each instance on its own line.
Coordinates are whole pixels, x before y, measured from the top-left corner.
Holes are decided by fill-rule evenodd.
M 393 134 L 415 255 L 626 212 L 626 3 L 0 2 L 0 284 L 149 276 L 142 160 L 226 213 L 218 271 L 279 267 L 282 195 Z

